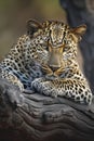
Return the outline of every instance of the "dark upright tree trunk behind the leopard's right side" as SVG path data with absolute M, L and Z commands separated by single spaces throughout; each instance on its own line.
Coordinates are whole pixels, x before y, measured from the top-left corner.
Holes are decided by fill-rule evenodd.
M 94 93 L 94 0 L 61 0 L 71 27 L 86 24 L 88 30 L 80 44 L 84 73 Z

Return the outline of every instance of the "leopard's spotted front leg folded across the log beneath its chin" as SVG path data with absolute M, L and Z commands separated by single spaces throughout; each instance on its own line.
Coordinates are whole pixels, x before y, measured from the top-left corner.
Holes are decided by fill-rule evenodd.
M 31 84 L 38 92 L 51 97 L 65 97 L 76 102 L 91 104 L 92 92 L 83 80 L 75 78 L 54 79 L 37 78 Z

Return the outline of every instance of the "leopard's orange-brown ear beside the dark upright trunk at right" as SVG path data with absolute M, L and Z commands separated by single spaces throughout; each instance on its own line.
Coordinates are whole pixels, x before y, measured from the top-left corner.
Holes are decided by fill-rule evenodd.
M 81 36 L 84 35 L 85 30 L 86 30 L 86 25 L 84 24 L 70 29 L 70 31 L 75 34 L 79 39 L 81 39 Z

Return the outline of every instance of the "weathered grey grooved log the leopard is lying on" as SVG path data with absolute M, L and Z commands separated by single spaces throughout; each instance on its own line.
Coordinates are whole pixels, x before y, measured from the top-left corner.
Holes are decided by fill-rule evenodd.
M 0 141 L 94 141 L 94 103 L 21 93 L 0 79 Z

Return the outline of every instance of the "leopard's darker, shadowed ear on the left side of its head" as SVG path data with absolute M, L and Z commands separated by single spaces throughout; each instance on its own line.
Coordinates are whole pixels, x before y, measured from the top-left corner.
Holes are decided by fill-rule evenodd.
M 27 22 L 27 34 L 33 36 L 33 34 L 38 30 L 42 29 L 42 24 L 38 23 L 35 20 L 29 20 Z

